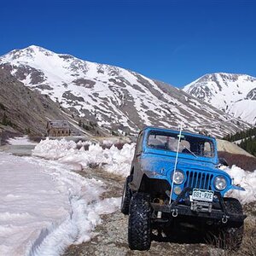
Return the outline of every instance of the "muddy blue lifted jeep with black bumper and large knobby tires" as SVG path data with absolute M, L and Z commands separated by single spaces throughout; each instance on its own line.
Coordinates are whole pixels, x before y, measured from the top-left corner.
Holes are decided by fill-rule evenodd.
M 213 137 L 154 127 L 140 131 L 121 203 L 121 212 L 129 214 L 129 247 L 148 250 L 153 231 L 189 226 L 219 247 L 238 249 L 246 215 L 238 200 L 224 196 L 244 189 L 219 166 Z

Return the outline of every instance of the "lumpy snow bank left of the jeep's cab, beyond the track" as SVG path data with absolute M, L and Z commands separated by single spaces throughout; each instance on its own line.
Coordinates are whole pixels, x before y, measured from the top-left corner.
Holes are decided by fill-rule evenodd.
M 88 143 L 86 143 L 88 145 Z M 78 147 L 79 146 L 79 147 Z M 119 150 L 112 145 L 111 148 L 102 149 L 99 144 L 89 144 L 89 150 L 84 150 L 83 143 L 67 142 L 65 139 L 44 140 L 32 151 L 35 156 L 49 160 L 59 160 L 61 163 L 72 165 L 73 168 L 87 166 L 102 166 L 107 172 L 127 176 L 130 172 L 131 160 L 135 144 L 125 144 Z M 80 148 L 80 149 L 78 149 Z

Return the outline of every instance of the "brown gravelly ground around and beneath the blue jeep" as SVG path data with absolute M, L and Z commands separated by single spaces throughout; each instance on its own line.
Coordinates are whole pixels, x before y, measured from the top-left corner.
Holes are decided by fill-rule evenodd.
M 106 184 L 106 193 L 102 197 L 117 197 L 122 195 L 124 178 L 99 168 L 89 168 L 79 172 L 84 177 L 94 177 Z M 128 217 L 120 211 L 108 215 L 102 215 L 102 224 L 96 226 L 96 236 L 90 241 L 67 248 L 63 256 L 85 255 L 249 255 L 256 256 L 256 202 L 244 206 L 244 212 L 248 215 L 245 222 L 245 234 L 239 252 L 224 251 L 211 244 L 207 244 L 196 234 L 179 234 L 171 238 L 158 238 L 154 236 L 151 248 L 146 252 L 131 251 L 127 243 Z

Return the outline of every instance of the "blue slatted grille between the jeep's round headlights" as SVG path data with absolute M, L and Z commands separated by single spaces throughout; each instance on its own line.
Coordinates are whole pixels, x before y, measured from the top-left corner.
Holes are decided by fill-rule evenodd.
M 185 188 L 189 187 L 192 189 L 212 189 L 212 174 L 205 172 L 186 172 L 187 180 L 185 182 Z

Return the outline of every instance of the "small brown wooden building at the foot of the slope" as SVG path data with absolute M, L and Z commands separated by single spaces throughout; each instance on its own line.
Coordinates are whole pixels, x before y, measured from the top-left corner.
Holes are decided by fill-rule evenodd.
M 48 137 L 67 137 L 71 134 L 67 120 L 50 120 L 47 122 L 46 131 Z

